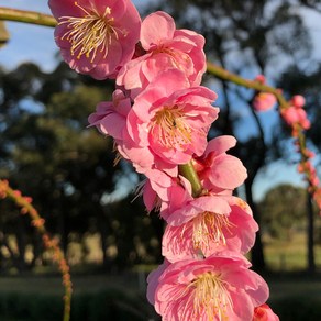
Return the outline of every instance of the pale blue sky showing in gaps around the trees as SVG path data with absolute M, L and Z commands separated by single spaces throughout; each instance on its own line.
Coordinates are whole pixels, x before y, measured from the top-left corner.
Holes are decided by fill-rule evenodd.
M 151 0 L 136 0 L 133 2 L 136 5 L 142 5 L 147 1 L 151 2 Z M 43 0 L 0 0 L 0 7 L 49 13 L 47 1 Z M 321 60 L 321 15 L 309 10 L 301 13 L 307 16 L 306 23 L 311 30 L 314 43 L 314 58 Z M 12 69 L 23 62 L 34 62 L 45 71 L 49 71 L 55 67 L 57 48 L 53 37 L 53 29 L 16 22 L 8 22 L 7 25 L 11 40 L 5 47 L 0 49 L 1 66 Z M 276 119 L 277 114 L 276 112 L 270 112 L 269 115 L 263 114 L 262 117 Z M 268 130 L 267 125 L 268 123 L 266 122 L 266 130 Z M 254 185 L 255 199 L 261 199 L 266 190 L 280 182 L 303 185 L 301 176 L 296 171 L 295 164 L 276 163 L 262 170 Z

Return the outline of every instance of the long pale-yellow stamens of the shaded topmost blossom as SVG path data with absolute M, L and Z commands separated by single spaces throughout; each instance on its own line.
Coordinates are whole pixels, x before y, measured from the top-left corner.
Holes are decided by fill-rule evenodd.
M 85 13 L 84 16 L 60 16 L 58 24 L 66 24 L 67 32 L 60 37 L 71 44 L 70 53 L 77 54 L 77 59 L 82 55 L 90 57 L 93 62 L 97 53 L 103 53 L 107 57 L 109 46 L 112 40 L 119 38 L 122 34 L 126 36 L 128 32 L 114 26 L 114 19 L 111 15 L 111 9 L 106 7 L 103 14 L 99 13 L 95 8 L 86 10 L 78 2 L 75 5 L 80 8 Z

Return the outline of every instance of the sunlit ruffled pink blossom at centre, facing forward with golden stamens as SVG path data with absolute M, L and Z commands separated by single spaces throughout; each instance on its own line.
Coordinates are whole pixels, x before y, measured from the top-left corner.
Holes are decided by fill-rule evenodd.
M 206 150 L 208 130 L 219 113 L 211 106 L 215 98 L 206 87 L 189 88 L 184 73 L 164 71 L 136 97 L 128 117 L 129 134 L 155 155 L 157 168 L 162 163 L 186 164 Z

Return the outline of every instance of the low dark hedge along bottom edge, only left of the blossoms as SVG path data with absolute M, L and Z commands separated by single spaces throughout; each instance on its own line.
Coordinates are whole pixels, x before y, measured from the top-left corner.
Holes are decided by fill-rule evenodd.
M 1 321 L 59 321 L 59 296 L 42 294 L 0 294 Z M 75 295 L 71 321 L 147 321 L 154 318 L 145 297 L 131 297 L 117 289 Z

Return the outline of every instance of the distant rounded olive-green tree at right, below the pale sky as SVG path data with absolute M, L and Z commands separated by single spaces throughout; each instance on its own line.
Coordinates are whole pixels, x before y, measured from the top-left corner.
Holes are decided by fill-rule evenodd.
M 306 203 L 303 188 L 286 184 L 270 189 L 258 204 L 264 231 L 273 237 L 291 241 L 294 232 L 306 226 Z

